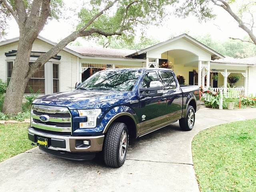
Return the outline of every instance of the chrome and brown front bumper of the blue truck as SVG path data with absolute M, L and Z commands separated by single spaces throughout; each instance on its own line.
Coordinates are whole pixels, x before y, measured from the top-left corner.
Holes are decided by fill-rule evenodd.
M 33 127 L 28 127 L 28 139 L 36 143 L 37 137 L 48 139 L 48 148 L 44 149 L 46 152 L 51 150 L 60 150 L 63 152 L 74 153 L 92 153 L 102 151 L 104 142 L 104 135 L 99 136 L 72 136 L 61 135 L 44 132 L 44 130 L 38 130 Z M 84 140 L 89 141 L 89 145 L 82 144 Z M 50 153 L 50 152 L 49 152 Z

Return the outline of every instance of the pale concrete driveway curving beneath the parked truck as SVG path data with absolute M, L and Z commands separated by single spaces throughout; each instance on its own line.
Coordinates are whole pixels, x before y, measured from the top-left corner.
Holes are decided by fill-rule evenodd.
M 217 124 L 256 118 L 256 108 L 201 108 L 194 129 L 178 122 L 130 141 L 124 165 L 106 167 L 101 158 L 73 161 L 38 147 L 0 163 L 0 191 L 9 192 L 199 192 L 191 141 L 200 130 Z

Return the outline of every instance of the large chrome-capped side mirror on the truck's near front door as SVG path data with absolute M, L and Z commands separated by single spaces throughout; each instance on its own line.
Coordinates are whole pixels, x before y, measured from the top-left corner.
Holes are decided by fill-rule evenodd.
M 160 81 L 152 81 L 149 88 L 140 88 L 140 93 L 142 98 L 162 96 L 164 94 L 164 87 Z

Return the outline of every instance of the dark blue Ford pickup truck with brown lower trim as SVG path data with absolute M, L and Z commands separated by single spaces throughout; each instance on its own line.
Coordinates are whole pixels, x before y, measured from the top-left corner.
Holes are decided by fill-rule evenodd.
M 120 167 L 129 139 L 178 120 L 192 130 L 199 108 L 199 87 L 179 85 L 172 70 L 102 70 L 75 90 L 34 100 L 28 138 L 68 159 L 90 160 L 102 151 L 106 165 Z

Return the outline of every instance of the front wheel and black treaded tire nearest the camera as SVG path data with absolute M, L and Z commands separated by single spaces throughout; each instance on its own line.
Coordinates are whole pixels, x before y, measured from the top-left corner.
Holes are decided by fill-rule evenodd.
M 117 168 L 124 164 L 128 142 L 129 134 L 126 124 L 112 123 L 104 140 L 104 161 L 107 166 Z

